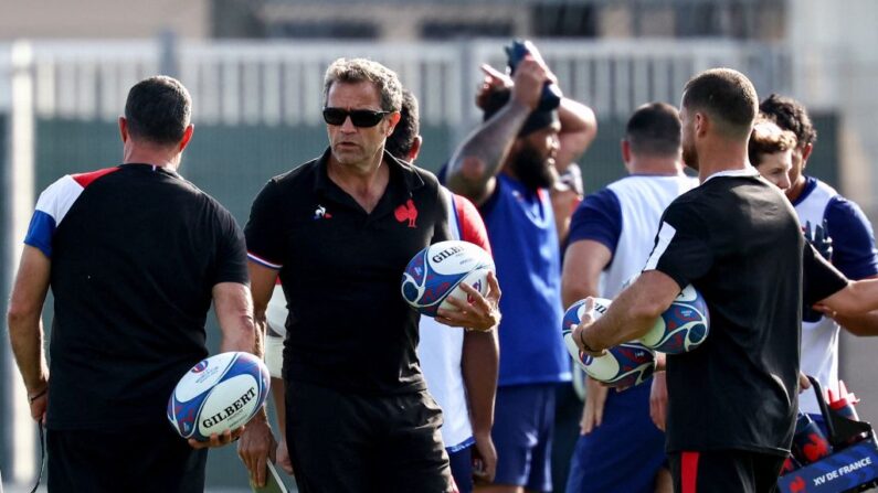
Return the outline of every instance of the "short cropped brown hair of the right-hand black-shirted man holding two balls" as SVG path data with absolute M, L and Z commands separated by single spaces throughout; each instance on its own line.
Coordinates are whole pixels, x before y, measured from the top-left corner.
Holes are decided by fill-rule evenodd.
M 686 83 L 683 106 L 704 110 L 718 120 L 720 132 L 747 138 L 759 114 L 759 97 L 745 75 L 731 68 L 711 68 Z

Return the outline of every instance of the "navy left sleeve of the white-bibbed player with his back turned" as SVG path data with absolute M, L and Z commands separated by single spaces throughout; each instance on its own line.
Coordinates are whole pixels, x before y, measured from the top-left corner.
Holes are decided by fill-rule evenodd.
M 586 196 L 570 221 L 569 244 L 582 239 L 601 243 L 615 254 L 622 235 L 622 206 L 609 189 Z

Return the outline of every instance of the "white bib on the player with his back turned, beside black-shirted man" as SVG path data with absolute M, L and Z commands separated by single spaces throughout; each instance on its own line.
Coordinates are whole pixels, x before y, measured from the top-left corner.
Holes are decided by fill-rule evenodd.
M 607 185 L 618 199 L 622 227 L 613 261 L 601 276 L 601 296 L 614 299 L 626 281 L 641 274 L 665 208 L 695 186 L 694 178 L 658 175 L 631 175 Z

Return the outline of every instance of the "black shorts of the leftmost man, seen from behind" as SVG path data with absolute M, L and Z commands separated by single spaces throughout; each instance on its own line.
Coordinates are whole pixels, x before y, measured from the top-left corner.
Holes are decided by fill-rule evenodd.
M 46 430 L 52 493 L 204 491 L 207 450 L 194 450 L 167 422 L 124 430 Z

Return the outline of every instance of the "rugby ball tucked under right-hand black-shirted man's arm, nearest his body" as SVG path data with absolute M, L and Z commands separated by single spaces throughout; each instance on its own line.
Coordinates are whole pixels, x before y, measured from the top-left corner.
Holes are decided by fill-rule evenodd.
M 689 285 L 641 337 L 641 342 L 660 353 L 680 354 L 698 347 L 709 332 L 707 301 Z

